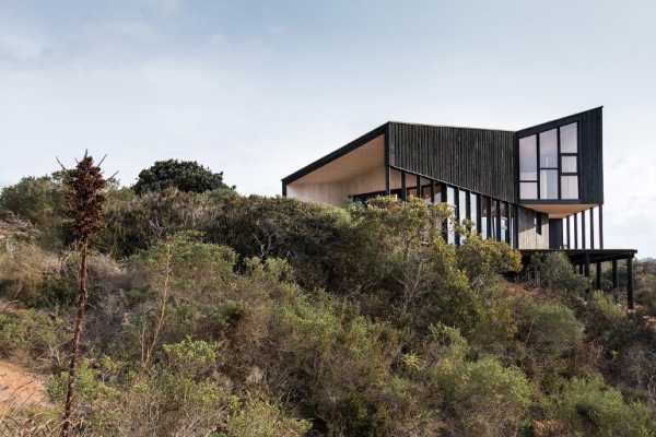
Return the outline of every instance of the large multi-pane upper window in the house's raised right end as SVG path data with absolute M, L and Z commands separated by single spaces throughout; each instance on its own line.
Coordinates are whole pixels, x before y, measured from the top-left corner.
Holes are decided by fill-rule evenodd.
M 578 199 L 578 125 L 519 139 L 519 198 Z

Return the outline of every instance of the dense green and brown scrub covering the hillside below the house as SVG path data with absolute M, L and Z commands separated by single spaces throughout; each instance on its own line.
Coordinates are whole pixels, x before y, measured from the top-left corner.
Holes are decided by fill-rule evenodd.
M 56 180 L 19 186 L 0 196 L 0 355 L 49 376 L 51 406 L 14 412 L 39 423 L 60 414 L 75 256 Z M 80 435 L 656 436 L 648 272 L 628 315 L 558 256 L 536 260 L 541 287 L 508 282 L 516 252 L 467 226 L 446 245 L 449 211 L 419 200 L 108 198 Z

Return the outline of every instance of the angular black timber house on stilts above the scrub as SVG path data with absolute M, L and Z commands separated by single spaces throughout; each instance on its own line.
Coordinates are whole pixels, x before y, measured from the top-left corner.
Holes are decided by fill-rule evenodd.
M 506 241 L 527 262 L 564 251 L 582 274 L 626 261 L 633 306 L 633 249 L 604 247 L 602 108 L 518 131 L 389 121 L 282 179 L 285 197 L 344 205 L 383 194 L 446 202 L 484 238 Z M 446 231 L 449 243 L 460 237 Z

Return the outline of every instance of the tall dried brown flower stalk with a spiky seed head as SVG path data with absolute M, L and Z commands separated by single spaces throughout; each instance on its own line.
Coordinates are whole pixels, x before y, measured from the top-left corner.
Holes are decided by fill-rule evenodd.
M 63 166 L 62 166 L 63 167 Z M 80 252 L 80 273 L 78 288 L 78 315 L 73 330 L 73 344 L 69 364 L 66 404 L 63 408 L 63 424 L 61 437 L 68 437 L 71 429 L 71 410 L 75 388 L 75 370 L 80 356 L 80 340 L 82 338 L 82 322 L 89 302 L 87 282 L 87 252 L 89 241 L 103 224 L 103 205 L 105 203 L 105 188 L 107 181 L 103 177 L 99 165 L 93 157 L 84 154 L 84 158 L 75 168 L 63 172 L 66 194 L 66 212 L 71 221 L 71 229 L 77 240 Z

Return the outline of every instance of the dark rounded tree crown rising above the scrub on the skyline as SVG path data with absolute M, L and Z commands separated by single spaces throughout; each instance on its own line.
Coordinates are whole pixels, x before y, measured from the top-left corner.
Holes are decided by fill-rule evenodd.
M 219 188 L 234 189 L 223 184 L 223 172 L 212 173 L 195 161 L 157 161 L 139 173 L 132 187 L 138 194 L 177 188 L 185 192 L 204 192 Z

